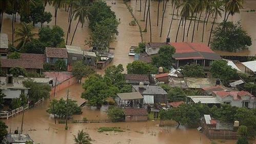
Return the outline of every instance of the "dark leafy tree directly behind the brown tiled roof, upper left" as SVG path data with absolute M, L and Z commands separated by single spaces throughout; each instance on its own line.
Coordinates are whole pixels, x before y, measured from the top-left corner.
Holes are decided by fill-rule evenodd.
M 44 43 L 46 47 L 65 47 L 64 31 L 59 26 L 43 27 L 38 34 L 40 42 Z

